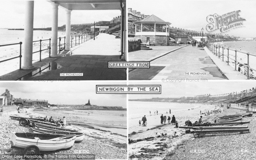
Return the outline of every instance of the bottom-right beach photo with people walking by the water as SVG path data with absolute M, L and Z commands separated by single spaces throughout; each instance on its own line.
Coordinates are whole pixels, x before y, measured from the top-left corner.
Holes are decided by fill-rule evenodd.
M 129 160 L 254 159 L 255 83 L 161 85 L 161 95 L 129 95 Z

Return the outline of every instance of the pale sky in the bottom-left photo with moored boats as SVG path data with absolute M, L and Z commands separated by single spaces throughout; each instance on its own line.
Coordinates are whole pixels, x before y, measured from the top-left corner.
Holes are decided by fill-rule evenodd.
M 14 98 L 48 100 L 50 104 L 86 104 L 121 106 L 126 108 L 125 94 L 96 94 L 96 85 L 126 83 L 113 82 L 1 82 L 0 94 L 7 88 Z

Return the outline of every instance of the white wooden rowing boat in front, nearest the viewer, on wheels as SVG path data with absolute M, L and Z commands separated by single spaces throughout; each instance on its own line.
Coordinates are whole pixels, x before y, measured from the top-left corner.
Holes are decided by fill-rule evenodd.
M 39 151 L 56 151 L 70 149 L 74 145 L 76 135 L 38 134 L 38 133 L 11 133 L 11 145 L 18 148 L 35 146 Z

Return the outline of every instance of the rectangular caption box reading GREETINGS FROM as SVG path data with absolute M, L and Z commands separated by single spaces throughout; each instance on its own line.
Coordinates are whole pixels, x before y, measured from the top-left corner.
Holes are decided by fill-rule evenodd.
M 109 61 L 108 68 L 150 68 L 150 62 L 146 61 L 129 61 L 129 62 L 115 62 Z

